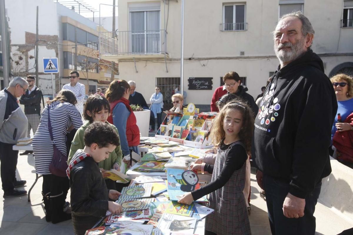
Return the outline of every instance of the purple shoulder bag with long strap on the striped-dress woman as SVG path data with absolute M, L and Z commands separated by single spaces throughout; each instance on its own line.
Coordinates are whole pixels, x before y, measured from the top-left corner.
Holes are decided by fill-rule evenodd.
M 54 143 L 53 128 L 52 128 L 52 123 L 50 122 L 49 109 L 50 108 L 48 105 L 48 129 L 49 129 L 49 134 L 53 143 L 53 150 L 54 150 L 53 160 L 49 164 L 49 172 L 56 176 L 66 177 L 66 169 L 68 167 L 67 156 L 65 154 L 62 154 L 61 151 L 56 147 Z

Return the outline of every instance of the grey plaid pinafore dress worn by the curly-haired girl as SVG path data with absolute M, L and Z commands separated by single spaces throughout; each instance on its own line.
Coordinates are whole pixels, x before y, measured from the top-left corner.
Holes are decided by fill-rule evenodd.
M 227 160 L 229 150 L 241 142 L 234 142 L 226 150 L 217 150 L 216 162 L 212 174 L 212 181 L 221 173 Z M 245 186 L 246 162 L 234 171 L 232 177 L 220 189 L 210 193 L 210 208 L 215 212 L 206 217 L 206 230 L 217 235 L 249 235 L 250 222 L 247 214 L 243 189 Z

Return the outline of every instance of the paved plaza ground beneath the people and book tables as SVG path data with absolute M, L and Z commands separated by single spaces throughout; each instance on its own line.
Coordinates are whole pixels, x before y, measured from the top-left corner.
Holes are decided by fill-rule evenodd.
M 34 157 L 32 154 L 18 156 L 17 179 L 27 180 L 25 187 L 19 189 L 29 190 L 34 183 L 36 174 Z M 4 192 L 0 191 L 0 234 L 6 235 L 71 235 L 73 234 L 71 220 L 52 224 L 45 221 L 42 204 L 42 178 L 34 186 L 31 192 L 31 202 L 27 202 L 27 196 L 15 198 L 3 198 Z M 70 191 L 68 193 L 68 200 Z M 251 174 L 251 215 L 250 225 L 253 235 L 270 235 L 267 217 L 266 202 L 259 194 L 259 186 L 255 179 L 255 169 Z M 317 235 L 336 235 L 344 229 L 353 227 L 334 214 L 321 203 L 317 204 L 315 216 L 317 219 Z

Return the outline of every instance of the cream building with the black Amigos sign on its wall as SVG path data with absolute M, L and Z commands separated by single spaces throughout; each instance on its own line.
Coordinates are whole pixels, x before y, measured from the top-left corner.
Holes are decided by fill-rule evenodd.
M 236 71 L 256 97 L 279 65 L 271 32 L 292 11 L 310 19 L 316 32 L 312 49 L 325 73 L 353 74 L 352 0 L 185 1 L 187 102 L 206 108 L 228 71 Z M 101 57 L 119 62 L 120 79 L 135 80 L 146 99 L 161 86 L 170 105 L 180 86 L 181 1 L 120 0 L 118 17 L 116 36 L 100 33 Z

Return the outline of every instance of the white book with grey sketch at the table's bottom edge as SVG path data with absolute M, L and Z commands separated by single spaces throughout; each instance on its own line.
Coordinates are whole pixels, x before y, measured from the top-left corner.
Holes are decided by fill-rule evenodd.
M 171 232 L 193 234 L 195 225 L 195 218 L 164 213 L 158 220 L 157 228 L 162 230 L 163 234 Z

